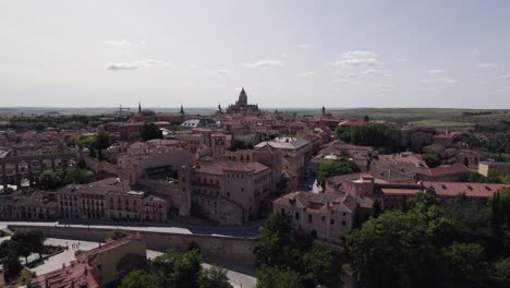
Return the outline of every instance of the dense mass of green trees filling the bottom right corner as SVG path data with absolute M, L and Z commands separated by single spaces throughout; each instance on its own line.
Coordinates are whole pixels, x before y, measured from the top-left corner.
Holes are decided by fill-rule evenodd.
M 501 196 L 496 197 L 493 209 L 505 215 Z M 409 211 L 384 212 L 353 230 L 348 251 L 361 285 L 508 287 L 507 224 L 490 224 L 487 208 L 473 212 L 464 199 L 442 207 L 435 196 L 420 193 L 408 201 Z M 479 215 L 466 216 L 472 214 Z

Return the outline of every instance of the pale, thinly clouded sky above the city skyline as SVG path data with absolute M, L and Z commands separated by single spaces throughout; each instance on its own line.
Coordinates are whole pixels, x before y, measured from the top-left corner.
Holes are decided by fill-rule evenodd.
M 510 1 L 0 0 L 0 107 L 510 108 Z

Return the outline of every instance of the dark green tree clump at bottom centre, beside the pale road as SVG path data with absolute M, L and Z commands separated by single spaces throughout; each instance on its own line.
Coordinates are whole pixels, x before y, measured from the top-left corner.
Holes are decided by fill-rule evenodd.
M 339 265 L 331 248 L 315 243 L 308 235 L 291 227 L 289 218 L 274 213 L 255 242 L 255 259 L 260 265 L 257 287 L 335 287 Z M 272 280 L 271 280 L 272 279 Z

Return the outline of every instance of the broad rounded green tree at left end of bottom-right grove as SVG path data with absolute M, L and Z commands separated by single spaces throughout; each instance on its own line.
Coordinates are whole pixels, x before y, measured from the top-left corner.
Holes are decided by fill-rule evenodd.
M 365 287 L 434 287 L 435 253 L 427 240 L 423 216 L 385 212 L 352 231 L 348 242 Z

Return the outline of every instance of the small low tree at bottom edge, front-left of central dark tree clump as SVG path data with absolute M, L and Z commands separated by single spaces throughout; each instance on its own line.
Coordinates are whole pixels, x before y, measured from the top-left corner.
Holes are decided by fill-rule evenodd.
M 263 266 L 257 272 L 257 288 L 302 288 L 300 275 L 291 269 Z

